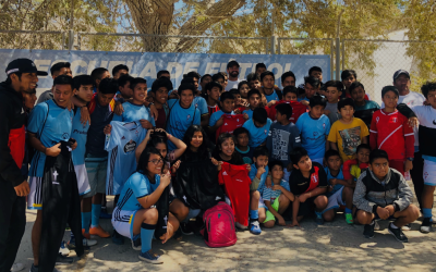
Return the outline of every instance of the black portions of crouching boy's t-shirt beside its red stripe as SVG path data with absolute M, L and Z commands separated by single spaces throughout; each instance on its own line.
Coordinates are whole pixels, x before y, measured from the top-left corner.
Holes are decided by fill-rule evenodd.
M 315 170 L 318 170 L 318 185 L 316 187 L 325 188 L 327 187 L 327 174 L 324 171 L 324 168 L 317 163 L 312 161 L 311 176 L 304 177 L 303 174 L 299 170 L 293 170 L 291 176 L 289 177 L 289 186 L 291 188 L 291 193 L 294 195 L 301 195 L 307 190 L 311 184 L 311 177 L 315 175 Z

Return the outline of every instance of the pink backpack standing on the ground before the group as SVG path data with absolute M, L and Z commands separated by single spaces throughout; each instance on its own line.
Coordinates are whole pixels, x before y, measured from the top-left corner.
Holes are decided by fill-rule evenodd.
M 209 247 L 229 247 L 237 243 L 233 210 L 223 201 L 203 214 L 202 235 Z

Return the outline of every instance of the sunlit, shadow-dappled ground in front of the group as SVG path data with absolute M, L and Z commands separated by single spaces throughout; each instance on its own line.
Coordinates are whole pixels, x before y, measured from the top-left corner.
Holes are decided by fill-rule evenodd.
M 112 203 L 108 203 L 111 208 Z M 434 210 L 436 212 L 436 210 Z M 31 231 L 35 212 L 27 211 L 27 225 L 16 262 L 32 265 Z M 58 265 L 60 271 L 436 271 L 435 232 L 419 232 L 421 221 L 404 232 L 409 243 L 397 242 L 387 231 L 387 221 L 379 221 L 380 231 L 373 239 L 363 237 L 362 225 L 347 225 L 339 213 L 336 220 L 316 225 L 306 219 L 300 227 L 276 226 L 263 230 L 259 236 L 239 232 L 238 243 L 227 248 L 209 248 L 199 236 L 183 236 L 162 245 L 154 240 L 153 249 L 162 255 L 164 264 L 140 261 L 138 251 L 129 239 L 123 246 L 110 238 L 97 238 L 82 260 Z M 110 220 L 101 220 L 105 230 L 112 230 Z M 69 232 L 65 234 L 65 240 Z M 434 267 L 435 265 L 435 267 Z

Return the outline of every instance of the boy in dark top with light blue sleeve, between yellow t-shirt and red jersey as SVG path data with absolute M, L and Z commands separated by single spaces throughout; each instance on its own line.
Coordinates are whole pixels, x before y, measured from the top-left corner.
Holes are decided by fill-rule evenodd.
M 362 119 L 366 126 L 371 127 L 374 112 L 378 111 L 380 107 L 377 102 L 365 99 L 365 87 L 360 82 L 353 82 L 350 85 L 350 94 L 355 104 L 354 116 Z

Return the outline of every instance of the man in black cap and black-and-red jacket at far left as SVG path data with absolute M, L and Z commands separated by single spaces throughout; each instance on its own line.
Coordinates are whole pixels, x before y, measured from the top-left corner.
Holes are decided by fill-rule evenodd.
M 26 225 L 27 176 L 21 168 L 25 154 L 25 118 L 22 94 L 36 91 L 38 75 L 33 61 L 16 59 L 7 66 L 0 83 L 0 271 L 11 271 Z M 25 165 L 27 168 L 27 165 Z M 21 264 L 21 263 L 20 263 Z M 23 267 L 16 263 L 14 267 Z

